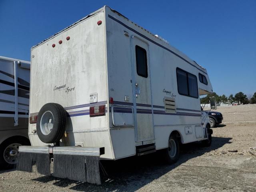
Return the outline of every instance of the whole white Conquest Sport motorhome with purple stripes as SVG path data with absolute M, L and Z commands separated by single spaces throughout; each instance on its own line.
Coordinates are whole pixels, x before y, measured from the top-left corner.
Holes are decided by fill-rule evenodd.
M 20 152 L 53 158 L 57 177 L 81 180 L 58 172 L 68 155 L 164 149 L 172 163 L 180 143 L 211 143 L 200 109 L 200 95 L 212 93 L 206 69 L 108 6 L 32 47 L 31 66 L 32 147 Z

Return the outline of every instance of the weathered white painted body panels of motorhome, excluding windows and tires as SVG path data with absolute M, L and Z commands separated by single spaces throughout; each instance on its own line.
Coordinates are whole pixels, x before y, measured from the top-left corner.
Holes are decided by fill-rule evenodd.
M 99 20 L 102 21 L 100 25 L 97 24 Z M 67 36 L 70 36 L 68 41 Z M 143 43 L 133 41 L 135 36 Z M 145 79 L 136 73 L 135 55 L 132 54 L 136 44 L 147 50 L 148 78 Z M 180 132 L 183 143 L 204 140 L 200 98 L 178 94 L 177 67 L 197 78 L 199 72 L 204 73 L 208 85 L 198 79 L 198 86 L 212 92 L 204 68 L 104 7 L 32 49 L 30 112 L 38 113 L 48 102 L 61 104 L 70 114 L 67 136 L 62 138 L 61 145 L 105 147 L 101 158 L 107 159 L 132 156 L 136 154 L 136 146 L 142 144 L 155 143 L 156 149 L 166 148 L 173 130 Z M 138 98 L 135 83 L 141 91 Z M 106 105 L 106 116 L 89 117 L 92 93 L 98 94 L 96 105 Z M 108 102 L 110 97 L 114 100 L 114 108 Z M 165 111 L 166 97 L 175 99 L 174 114 Z M 191 134 L 185 134 L 188 126 L 192 129 Z M 32 133 L 34 129 L 35 125 L 31 124 L 32 144 L 44 145 Z

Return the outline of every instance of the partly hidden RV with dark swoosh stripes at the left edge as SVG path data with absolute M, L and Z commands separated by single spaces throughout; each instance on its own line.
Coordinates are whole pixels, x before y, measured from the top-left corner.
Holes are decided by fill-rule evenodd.
M 30 62 L 0 56 L 0 168 L 16 164 L 18 148 L 30 145 Z

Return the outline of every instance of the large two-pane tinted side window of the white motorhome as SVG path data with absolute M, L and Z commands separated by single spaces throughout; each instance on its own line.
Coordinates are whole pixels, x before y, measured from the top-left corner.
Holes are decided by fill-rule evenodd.
M 178 92 L 180 95 L 198 98 L 197 78 L 180 68 L 176 69 Z

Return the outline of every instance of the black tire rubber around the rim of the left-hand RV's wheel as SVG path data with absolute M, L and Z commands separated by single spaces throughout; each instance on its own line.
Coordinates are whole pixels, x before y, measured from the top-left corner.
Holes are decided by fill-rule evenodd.
M 30 145 L 30 142 L 26 138 L 12 138 L 7 139 L 0 145 L 0 168 L 1 169 L 12 169 L 15 167 L 16 163 L 9 163 L 5 160 L 4 156 L 6 151 L 6 148 L 12 144 L 20 144 L 20 145 Z M 17 153 L 18 154 L 18 153 Z M 12 159 L 13 161 L 16 161 L 17 155 Z

